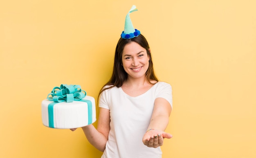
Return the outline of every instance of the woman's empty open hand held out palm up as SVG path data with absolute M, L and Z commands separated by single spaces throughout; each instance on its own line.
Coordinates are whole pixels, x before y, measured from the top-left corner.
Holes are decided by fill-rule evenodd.
M 147 147 L 160 147 L 164 144 L 164 138 L 172 138 L 171 134 L 168 134 L 164 131 L 159 131 L 155 129 L 151 129 L 144 134 L 142 141 L 143 144 Z

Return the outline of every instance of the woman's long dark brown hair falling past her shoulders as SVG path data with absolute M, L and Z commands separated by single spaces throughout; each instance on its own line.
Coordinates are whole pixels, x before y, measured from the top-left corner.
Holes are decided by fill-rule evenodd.
M 120 38 L 116 51 L 115 51 L 115 59 L 114 59 L 114 67 L 113 67 L 113 72 L 110 80 L 101 88 L 99 91 L 99 95 L 106 89 L 110 89 L 111 87 L 121 87 L 124 83 L 124 81 L 127 80 L 128 74 L 124 70 L 124 67 L 122 66 L 122 53 L 124 50 L 124 46 L 130 42 L 136 42 L 138 43 L 141 47 L 146 49 L 147 55 L 149 56 L 149 65 L 148 65 L 148 70 L 146 71 L 146 80 L 148 80 L 149 83 L 151 83 L 151 80 L 155 80 L 158 82 L 157 77 L 155 76 L 154 69 L 153 69 L 153 62 L 152 62 L 152 57 L 151 53 L 149 50 L 149 45 L 146 40 L 146 38 L 140 34 L 137 37 L 130 38 L 130 39 L 123 39 Z M 151 83 L 153 84 L 153 83 Z M 105 87 L 107 85 L 110 85 L 108 87 Z

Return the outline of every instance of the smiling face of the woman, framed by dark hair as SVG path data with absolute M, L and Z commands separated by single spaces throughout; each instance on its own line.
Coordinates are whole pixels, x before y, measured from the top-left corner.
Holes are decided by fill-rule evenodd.
M 125 45 L 122 54 L 124 70 L 128 73 L 128 78 L 144 78 L 149 65 L 149 56 L 145 48 L 136 42 Z

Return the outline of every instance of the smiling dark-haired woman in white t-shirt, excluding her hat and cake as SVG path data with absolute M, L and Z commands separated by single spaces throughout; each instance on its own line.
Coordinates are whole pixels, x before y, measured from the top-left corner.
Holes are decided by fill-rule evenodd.
M 146 38 L 120 38 L 113 73 L 99 93 L 99 119 L 82 127 L 101 158 L 161 158 L 172 110 L 172 88 L 154 74 Z M 74 129 L 72 129 L 74 130 Z

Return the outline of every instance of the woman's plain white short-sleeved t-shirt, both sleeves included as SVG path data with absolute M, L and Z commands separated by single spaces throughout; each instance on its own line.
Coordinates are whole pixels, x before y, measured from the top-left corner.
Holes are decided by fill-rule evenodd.
M 160 147 L 147 147 L 142 142 L 156 98 L 164 98 L 172 106 L 171 85 L 157 82 L 137 97 L 128 96 L 121 87 L 112 87 L 101 93 L 99 107 L 110 110 L 110 131 L 101 158 L 162 157 Z

